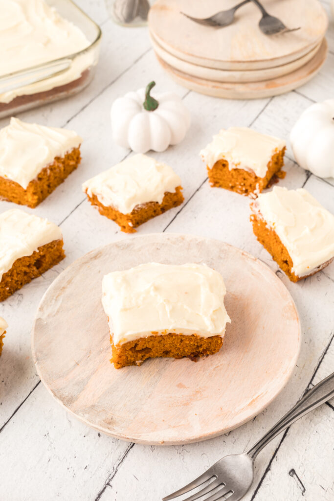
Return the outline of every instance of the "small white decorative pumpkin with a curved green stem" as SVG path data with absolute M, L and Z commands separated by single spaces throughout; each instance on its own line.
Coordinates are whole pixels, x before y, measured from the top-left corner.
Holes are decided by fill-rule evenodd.
M 190 114 L 179 96 L 172 92 L 150 95 L 155 82 L 145 89 L 128 92 L 111 107 L 114 141 L 136 153 L 164 151 L 184 138 Z

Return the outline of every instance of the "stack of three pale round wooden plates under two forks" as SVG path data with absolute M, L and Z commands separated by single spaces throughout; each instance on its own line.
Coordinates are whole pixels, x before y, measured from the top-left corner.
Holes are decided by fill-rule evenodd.
M 317 0 L 262 0 L 287 27 L 300 30 L 264 35 L 261 13 L 250 2 L 232 25 L 199 25 L 182 13 L 206 18 L 237 0 L 158 0 L 149 13 L 157 58 L 181 85 L 212 96 L 251 99 L 291 91 L 310 80 L 327 55 L 327 16 Z

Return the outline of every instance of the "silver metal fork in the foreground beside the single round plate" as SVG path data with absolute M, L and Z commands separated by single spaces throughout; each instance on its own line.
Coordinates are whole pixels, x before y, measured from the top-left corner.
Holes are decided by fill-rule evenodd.
M 195 501 L 199 498 L 201 501 L 220 501 L 226 498 L 228 501 L 238 501 L 246 494 L 253 482 L 254 460 L 260 450 L 278 433 L 332 396 L 334 396 L 334 372 L 309 390 L 248 452 L 223 457 L 205 473 L 182 489 L 164 497 L 162 501 L 169 501 L 186 494 L 209 481 L 208 485 L 183 501 Z

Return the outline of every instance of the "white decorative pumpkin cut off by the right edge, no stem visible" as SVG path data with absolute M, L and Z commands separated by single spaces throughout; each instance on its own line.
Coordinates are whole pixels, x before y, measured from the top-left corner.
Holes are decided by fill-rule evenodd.
M 334 99 L 312 104 L 290 132 L 297 163 L 318 177 L 334 177 Z

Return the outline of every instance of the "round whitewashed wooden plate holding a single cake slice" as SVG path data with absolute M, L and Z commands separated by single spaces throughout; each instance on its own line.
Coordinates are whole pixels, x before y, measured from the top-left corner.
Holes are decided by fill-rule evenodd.
M 102 277 L 145 262 L 206 263 L 225 281 L 227 326 L 219 353 L 198 360 L 110 363 Z M 151 234 L 93 250 L 45 293 L 33 357 L 51 394 L 99 431 L 146 444 L 195 442 L 240 426 L 280 392 L 295 366 L 300 326 L 288 291 L 249 254 L 218 240 Z

